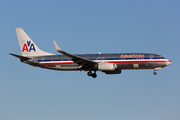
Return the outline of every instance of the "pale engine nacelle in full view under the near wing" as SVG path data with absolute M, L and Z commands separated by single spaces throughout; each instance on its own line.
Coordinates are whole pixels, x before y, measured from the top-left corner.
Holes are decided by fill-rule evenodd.
M 99 63 L 98 70 L 100 71 L 114 71 L 117 65 L 114 63 Z

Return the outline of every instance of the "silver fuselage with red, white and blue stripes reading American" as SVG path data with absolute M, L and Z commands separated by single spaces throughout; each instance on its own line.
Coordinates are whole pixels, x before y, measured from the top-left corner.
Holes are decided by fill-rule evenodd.
M 117 65 L 116 70 L 155 69 L 163 68 L 171 64 L 171 61 L 165 59 L 163 56 L 150 53 L 76 54 L 76 56 L 98 63 L 114 63 Z M 74 62 L 72 58 L 65 55 L 33 57 L 33 61 L 37 61 L 48 69 L 81 70 L 81 65 L 77 64 L 79 61 Z

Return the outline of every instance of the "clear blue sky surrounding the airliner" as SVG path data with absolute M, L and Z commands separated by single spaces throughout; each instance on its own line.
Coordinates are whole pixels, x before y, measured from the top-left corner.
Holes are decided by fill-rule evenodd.
M 179 120 L 178 0 L 1 0 L 1 120 Z M 120 75 L 51 71 L 21 63 L 15 28 L 44 51 L 156 53 L 172 64 Z

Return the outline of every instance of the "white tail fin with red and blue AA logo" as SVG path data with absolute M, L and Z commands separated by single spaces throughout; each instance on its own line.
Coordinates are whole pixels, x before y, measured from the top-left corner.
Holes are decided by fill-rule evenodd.
M 38 46 L 31 40 L 31 38 L 24 32 L 22 28 L 16 28 L 17 37 L 19 40 L 22 56 L 45 56 L 53 55 L 51 53 L 44 52 L 38 48 Z

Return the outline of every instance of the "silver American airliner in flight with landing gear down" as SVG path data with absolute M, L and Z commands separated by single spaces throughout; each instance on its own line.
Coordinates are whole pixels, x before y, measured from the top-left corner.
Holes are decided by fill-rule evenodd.
M 16 28 L 16 33 L 22 55 L 12 54 L 21 62 L 60 71 L 86 71 L 88 76 L 96 78 L 96 71 L 106 74 L 121 74 L 121 70 L 130 69 L 153 69 L 156 75 L 157 70 L 161 70 L 171 64 L 171 61 L 161 55 L 151 53 L 115 53 L 115 54 L 70 54 L 63 51 L 54 42 L 57 52 L 62 55 L 55 55 L 44 52 L 32 41 L 22 28 Z

